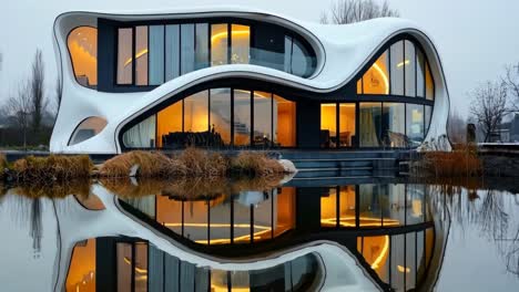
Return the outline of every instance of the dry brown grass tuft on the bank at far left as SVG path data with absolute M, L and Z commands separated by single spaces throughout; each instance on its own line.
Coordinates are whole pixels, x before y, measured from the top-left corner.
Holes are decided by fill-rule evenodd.
M 75 178 L 90 178 L 92 161 L 86 155 L 47 157 L 28 156 L 12 165 L 14 179 L 31 185 L 47 185 L 51 181 L 68 181 Z

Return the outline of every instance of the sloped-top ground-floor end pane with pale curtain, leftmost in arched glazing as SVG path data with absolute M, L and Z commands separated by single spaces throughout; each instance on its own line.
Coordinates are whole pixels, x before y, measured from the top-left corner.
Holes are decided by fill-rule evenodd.
M 129 148 L 155 147 L 155 115 L 126 131 L 123 135 L 123 144 Z

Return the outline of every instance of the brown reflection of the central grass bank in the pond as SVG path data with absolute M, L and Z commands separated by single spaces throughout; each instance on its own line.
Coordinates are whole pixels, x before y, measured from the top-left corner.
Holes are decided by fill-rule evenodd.
M 139 198 L 150 195 L 170 196 L 179 200 L 215 199 L 245 190 L 269 190 L 279 185 L 283 176 L 230 179 L 225 177 L 196 177 L 174 180 L 161 179 L 109 179 L 101 184 L 123 198 Z

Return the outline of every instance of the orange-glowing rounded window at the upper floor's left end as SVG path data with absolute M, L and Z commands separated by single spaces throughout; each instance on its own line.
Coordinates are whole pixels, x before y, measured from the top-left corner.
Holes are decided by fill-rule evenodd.
M 70 32 L 67 45 L 78 83 L 85 87 L 95 87 L 98 85 L 98 30 L 89 27 L 77 28 Z

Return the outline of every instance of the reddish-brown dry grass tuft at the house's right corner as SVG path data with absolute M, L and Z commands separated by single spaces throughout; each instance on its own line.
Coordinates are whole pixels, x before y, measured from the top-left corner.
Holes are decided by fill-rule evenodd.
M 478 177 L 482 173 L 482 161 L 471 145 L 458 146 L 452 152 L 426 152 L 411 166 L 415 177 Z

